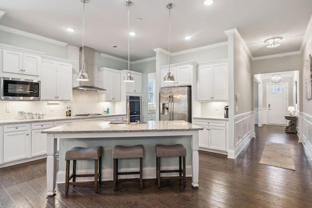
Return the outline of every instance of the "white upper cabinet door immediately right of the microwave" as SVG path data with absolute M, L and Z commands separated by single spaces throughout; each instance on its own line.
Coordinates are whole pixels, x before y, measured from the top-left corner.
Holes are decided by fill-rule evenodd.
M 55 100 L 57 98 L 57 62 L 41 61 L 41 100 Z

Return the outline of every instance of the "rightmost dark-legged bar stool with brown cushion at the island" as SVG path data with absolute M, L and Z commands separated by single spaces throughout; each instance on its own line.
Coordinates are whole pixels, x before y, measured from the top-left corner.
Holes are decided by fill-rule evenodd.
M 179 170 L 161 170 L 160 159 L 161 157 L 179 157 Z M 183 169 L 181 165 L 181 157 L 183 157 Z M 158 188 L 160 188 L 160 179 L 183 179 L 183 187 L 185 187 L 185 157 L 186 149 L 182 144 L 175 145 L 156 145 L 156 178 Z M 179 172 L 179 176 L 161 177 L 162 172 Z M 182 176 L 183 174 L 183 176 Z

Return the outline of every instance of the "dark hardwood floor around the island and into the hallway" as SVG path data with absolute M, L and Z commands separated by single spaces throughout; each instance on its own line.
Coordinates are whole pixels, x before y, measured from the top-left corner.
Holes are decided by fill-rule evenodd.
M 187 178 L 183 188 L 179 180 L 122 182 L 117 191 L 112 181 L 104 181 L 96 194 L 93 186 L 57 185 L 55 196 L 46 196 L 46 160 L 0 169 L 0 208 L 311 208 L 312 161 L 296 134 L 284 133 L 284 127 L 255 127 L 252 139 L 240 155 L 199 152 L 199 188 Z M 259 164 L 266 141 L 291 146 L 295 171 Z

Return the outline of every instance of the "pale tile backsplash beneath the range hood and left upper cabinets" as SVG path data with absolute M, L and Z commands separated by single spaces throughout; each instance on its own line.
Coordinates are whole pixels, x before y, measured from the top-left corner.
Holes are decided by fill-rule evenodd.
M 66 116 L 66 107 L 70 106 L 72 115 L 81 113 L 103 113 L 109 107 L 115 112 L 115 102 L 103 102 L 105 93 L 73 90 L 72 101 L 60 101 L 59 104 L 48 104 L 48 101 L 10 101 L 0 100 L 0 120 L 17 119 L 19 111 L 45 113 L 46 117 Z M 7 112 L 7 109 L 11 112 Z M 118 113 L 118 112 L 117 112 Z

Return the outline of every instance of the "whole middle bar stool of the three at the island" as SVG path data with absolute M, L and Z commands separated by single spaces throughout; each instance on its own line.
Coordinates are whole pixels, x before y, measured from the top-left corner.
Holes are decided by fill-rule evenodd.
M 118 179 L 118 175 L 127 175 L 127 174 L 140 174 L 140 189 L 143 189 L 143 145 L 135 146 L 121 146 L 116 145 L 113 149 L 113 159 L 114 159 L 114 190 L 116 190 L 117 181 L 120 180 L 129 180 L 129 179 Z M 140 158 L 140 171 L 132 172 L 118 172 L 118 159 L 122 158 Z

